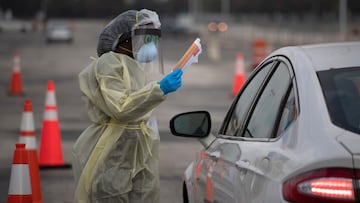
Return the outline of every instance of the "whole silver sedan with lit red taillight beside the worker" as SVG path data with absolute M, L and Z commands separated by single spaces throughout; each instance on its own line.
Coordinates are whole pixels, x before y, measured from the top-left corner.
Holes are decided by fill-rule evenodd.
M 170 121 L 203 145 L 184 202 L 360 202 L 360 42 L 274 51 L 210 128 L 206 111 Z

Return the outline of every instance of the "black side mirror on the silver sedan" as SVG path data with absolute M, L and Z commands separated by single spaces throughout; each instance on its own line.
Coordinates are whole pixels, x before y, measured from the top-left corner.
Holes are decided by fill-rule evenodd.
M 211 116 L 207 111 L 185 112 L 170 120 L 170 130 L 175 136 L 204 138 L 211 129 Z

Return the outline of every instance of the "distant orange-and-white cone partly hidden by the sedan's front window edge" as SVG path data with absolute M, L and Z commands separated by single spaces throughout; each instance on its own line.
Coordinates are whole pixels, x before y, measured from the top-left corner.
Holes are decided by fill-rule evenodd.
M 245 64 L 244 64 L 244 56 L 242 53 L 238 53 L 236 55 L 236 65 L 235 65 L 235 77 L 234 77 L 234 85 L 232 89 L 232 95 L 235 96 L 245 82 Z

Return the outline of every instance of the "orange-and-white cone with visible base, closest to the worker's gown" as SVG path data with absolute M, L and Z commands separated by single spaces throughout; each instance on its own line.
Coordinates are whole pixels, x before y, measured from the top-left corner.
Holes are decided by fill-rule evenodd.
M 45 98 L 44 118 L 42 123 L 39 166 L 43 168 L 68 168 L 63 160 L 61 134 L 58 121 L 55 85 L 48 81 Z

